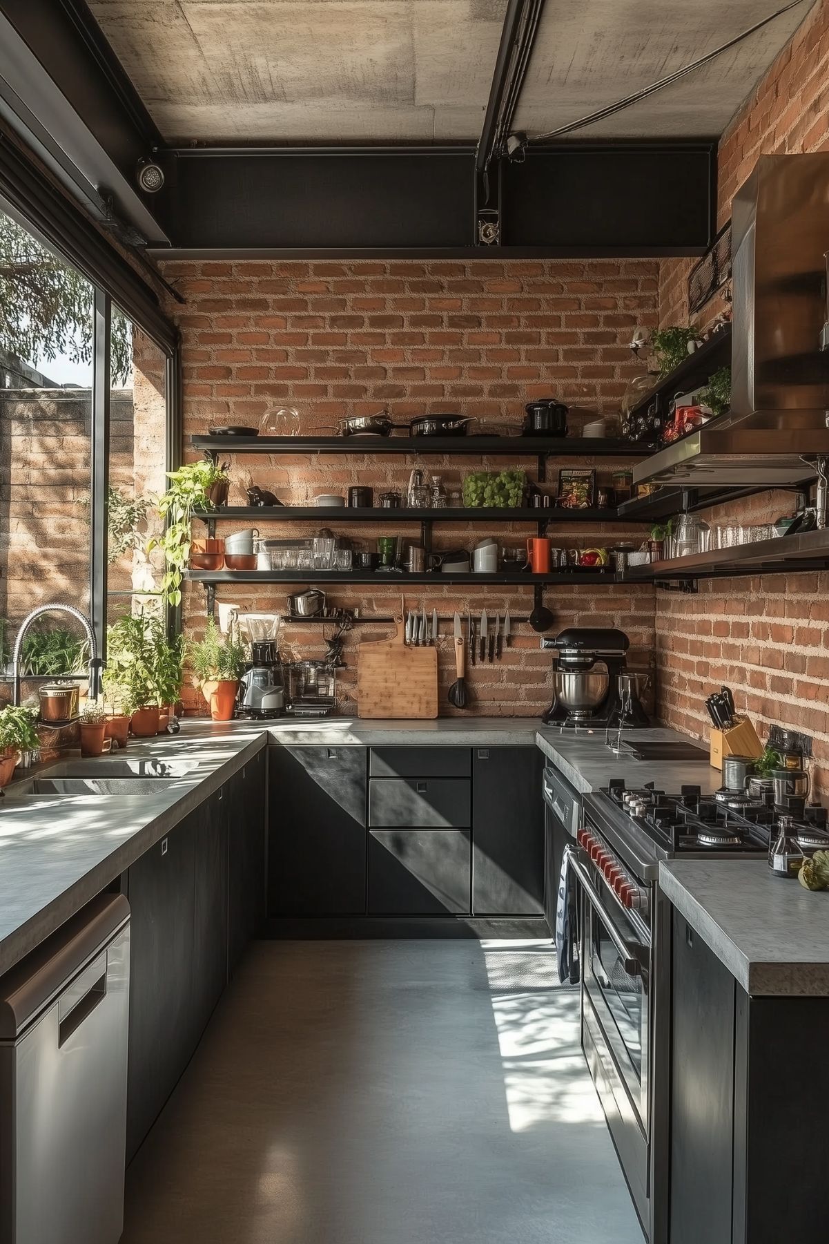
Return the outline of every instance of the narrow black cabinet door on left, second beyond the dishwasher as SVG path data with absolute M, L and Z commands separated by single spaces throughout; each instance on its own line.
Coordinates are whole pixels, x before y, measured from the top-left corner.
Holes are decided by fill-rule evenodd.
M 227 806 L 230 784 L 201 805 L 195 827 L 193 1005 L 195 1050 L 227 983 Z

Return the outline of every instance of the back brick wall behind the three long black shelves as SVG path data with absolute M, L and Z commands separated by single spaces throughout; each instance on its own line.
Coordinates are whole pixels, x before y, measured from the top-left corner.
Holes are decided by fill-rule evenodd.
M 403 420 L 426 411 L 461 411 L 517 423 L 531 397 L 558 394 L 568 404 L 618 411 L 628 378 L 636 371 L 628 342 L 640 323 L 656 322 L 657 264 L 654 261 L 584 262 L 169 262 L 164 275 L 185 296 L 172 307 L 183 332 L 185 438 L 215 423 L 259 424 L 268 407 L 300 408 L 303 430 L 331 427 L 344 414 L 374 413 L 388 404 Z M 575 415 L 575 427 L 588 415 Z M 193 457 L 188 454 L 188 457 Z M 589 459 L 585 459 L 589 463 Z M 568 459 L 563 465 L 574 465 Z M 532 468 L 532 459 L 522 464 Z M 234 458 L 230 503 L 244 504 L 241 486 L 250 479 L 275 489 L 281 500 L 308 503 L 317 493 L 370 484 L 375 493 L 405 488 L 411 462 L 396 458 L 309 458 L 290 460 Z M 439 473 L 447 486 L 460 486 L 465 470 L 498 469 L 503 459 L 425 458 L 418 465 Z M 559 464 L 553 464 L 553 473 Z M 613 464 L 599 462 L 600 471 Z M 531 471 L 532 474 L 532 471 Z M 552 488 L 552 483 L 549 485 Z M 331 518 L 331 526 L 337 524 Z M 241 524 L 237 524 L 241 525 Z M 230 530 L 229 525 L 224 530 Z M 286 534 L 270 524 L 275 535 Z M 292 524 L 290 531 L 313 530 Z M 341 529 L 369 542 L 392 534 L 378 524 Z M 416 532 L 400 527 L 411 537 Z M 437 547 L 470 546 L 482 529 L 435 527 Z M 527 526 L 492 527 L 505 545 L 518 545 Z M 613 529 L 618 539 L 641 529 Z M 559 525 L 557 542 L 592 546 L 608 542 L 610 531 Z M 439 581 L 437 581 L 439 582 Z M 405 586 L 405 583 L 404 583 Z M 400 583 L 354 592 L 332 592 L 341 606 L 388 616 L 399 607 Z M 220 600 L 245 608 L 285 612 L 285 592 L 273 585 L 220 591 Z M 510 606 L 527 616 L 532 591 L 462 592 L 451 587 L 406 592 L 406 606 L 423 602 L 441 615 L 469 606 L 488 612 Z M 549 588 L 547 603 L 558 629 L 569 623 L 619 626 L 644 663 L 653 647 L 654 595 L 650 587 Z M 198 634 L 204 592 L 185 595 L 185 622 Z M 454 678 L 449 626 L 440 651 L 441 710 Z M 388 627 L 363 626 L 367 639 Z M 341 687 L 349 705 L 355 664 L 355 636 L 346 648 L 348 669 Z M 283 644 L 288 656 L 322 656 L 318 627 L 291 624 Z M 537 714 L 551 699 L 549 658 L 527 626 L 501 664 L 471 673 L 477 712 Z

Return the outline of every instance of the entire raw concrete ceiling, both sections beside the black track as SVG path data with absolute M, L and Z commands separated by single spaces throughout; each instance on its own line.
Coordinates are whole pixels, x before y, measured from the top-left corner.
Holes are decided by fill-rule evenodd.
M 513 128 L 574 121 L 783 0 L 547 0 Z M 812 0 L 573 138 L 722 132 Z M 507 0 L 89 0 L 168 142 L 477 139 Z

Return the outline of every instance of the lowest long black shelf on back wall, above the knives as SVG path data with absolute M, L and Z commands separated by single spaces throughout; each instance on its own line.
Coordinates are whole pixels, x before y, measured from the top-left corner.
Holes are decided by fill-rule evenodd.
M 469 586 L 515 586 L 538 587 L 544 583 L 613 583 L 616 582 L 614 570 L 594 570 L 573 566 L 568 570 L 551 571 L 549 575 L 532 575 L 524 571 L 497 571 L 490 575 L 472 571 L 444 573 L 439 570 L 420 575 L 400 571 L 353 571 L 353 570 L 186 570 L 184 577 L 194 583 L 352 583 L 375 587 L 400 587 L 405 583 L 431 583 L 442 587 L 454 583 Z

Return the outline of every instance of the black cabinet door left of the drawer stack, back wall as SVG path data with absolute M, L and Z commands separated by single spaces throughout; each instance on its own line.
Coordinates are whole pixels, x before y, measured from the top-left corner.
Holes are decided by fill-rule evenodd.
M 365 913 L 365 748 L 271 748 L 268 913 Z

